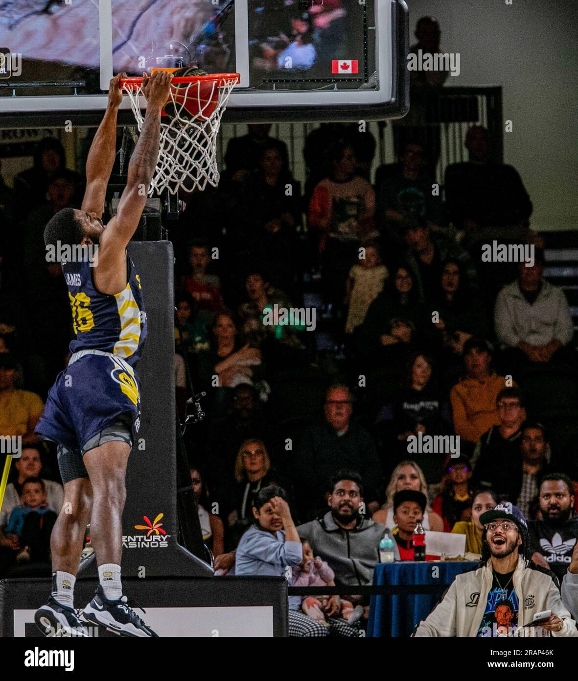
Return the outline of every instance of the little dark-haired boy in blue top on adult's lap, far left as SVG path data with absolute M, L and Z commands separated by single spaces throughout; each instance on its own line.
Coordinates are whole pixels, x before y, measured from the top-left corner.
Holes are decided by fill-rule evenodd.
M 56 513 L 48 508 L 46 488 L 39 477 L 30 477 L 22 485 L 22 505 L 12 509 L 5 535 L 16 540 L 20 549 L 17 561 L 48 561 L 50 533 L 56 522 Z M 17 550 L 17 549 L 16 549 Z

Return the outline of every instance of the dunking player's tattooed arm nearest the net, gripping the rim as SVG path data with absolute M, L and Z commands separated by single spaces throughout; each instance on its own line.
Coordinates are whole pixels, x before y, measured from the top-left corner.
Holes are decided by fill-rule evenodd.
M 173 76 L 165 71 L 155 72 L 150 78 L 143 74 L 146 115 L 139 141 L 131 156 L 126 187 L 120 197 L 116 216 L 108 223 L 101 237 L 101 257 L 102 251 L 111 246 L 124 253 L 139 225 L 158 159 L 160 112 L 169 98 L 172 79 Z

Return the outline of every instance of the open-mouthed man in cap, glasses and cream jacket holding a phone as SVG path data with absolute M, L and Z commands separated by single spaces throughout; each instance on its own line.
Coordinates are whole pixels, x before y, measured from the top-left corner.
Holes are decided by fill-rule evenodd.
M 505 501 L 479 518 L 480 567 L 456 577 L 414 636 L 575 636 L 576 623 L 562 605 L 554 575 L 526 558 L 528 524 Z M 541 624 L 534 615 L 550 611 Z

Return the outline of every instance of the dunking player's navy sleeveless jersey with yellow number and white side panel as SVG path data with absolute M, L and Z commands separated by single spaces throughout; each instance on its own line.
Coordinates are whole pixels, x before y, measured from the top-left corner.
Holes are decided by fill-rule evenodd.
M 131 366 L 139 360 L 146 339 L 146 313 L 139 275 L 126 255 L 128 282 L 120 294 L 101 294 L 92 279 L 94 268 L 87 260 L 63 262 L 72 308 L 74 332 L 69 346 L 79 350 L 101 350 L 118 355 Z

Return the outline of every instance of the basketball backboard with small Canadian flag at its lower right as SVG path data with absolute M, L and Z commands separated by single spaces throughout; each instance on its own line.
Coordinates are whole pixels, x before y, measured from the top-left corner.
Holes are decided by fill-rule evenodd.
M 240 74 L 226 121 L 392 118 L 407 110 L 405 54 L 403 0 L 12 0 L 0 113 L 10 127 L 42 112 L 97 122 L 114 74 L 194 65 Z

